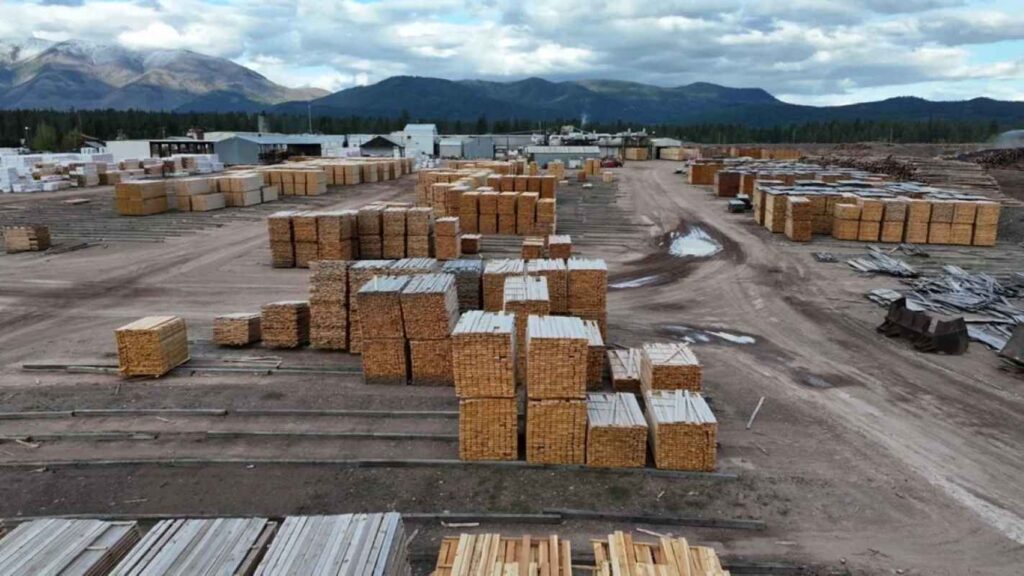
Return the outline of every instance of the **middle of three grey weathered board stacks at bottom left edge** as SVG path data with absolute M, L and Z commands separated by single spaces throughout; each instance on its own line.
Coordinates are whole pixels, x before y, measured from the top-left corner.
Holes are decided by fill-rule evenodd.
M 256 569 L 276 526 L 262 518 L 160 521 L 111 576 L 247 576 Z

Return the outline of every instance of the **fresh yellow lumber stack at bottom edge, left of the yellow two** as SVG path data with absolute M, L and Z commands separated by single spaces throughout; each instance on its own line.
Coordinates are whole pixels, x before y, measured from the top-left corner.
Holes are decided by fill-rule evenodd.
M 560 540 L 558 536 L 503 538 L 501 534 L 462 534 L 441 540 L 431 576 L 476 574 L 572 576 L 572 549 L 568 540 Z

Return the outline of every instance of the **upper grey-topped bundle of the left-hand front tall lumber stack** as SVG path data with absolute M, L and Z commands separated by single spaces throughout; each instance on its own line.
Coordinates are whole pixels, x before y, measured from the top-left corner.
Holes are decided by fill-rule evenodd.
M 515 398 L 515 319 L 470 311 L 452 332 L 452 369 L 459 398 Z

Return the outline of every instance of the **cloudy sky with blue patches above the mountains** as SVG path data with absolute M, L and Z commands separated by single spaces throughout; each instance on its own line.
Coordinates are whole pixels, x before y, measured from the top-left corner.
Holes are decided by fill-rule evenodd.
M 228 57 L 330 90 L 399 74 L 1024 100 L 1024 0 L 0 0 L 0 39 Z

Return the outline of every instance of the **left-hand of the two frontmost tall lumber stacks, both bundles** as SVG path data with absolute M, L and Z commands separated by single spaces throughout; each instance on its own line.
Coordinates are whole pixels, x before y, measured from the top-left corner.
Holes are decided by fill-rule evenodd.
M 459 457 L 463 460 L 514 460 L 518 456 L 514 326 L 511 315 L 470 311 L 452 333 Z

